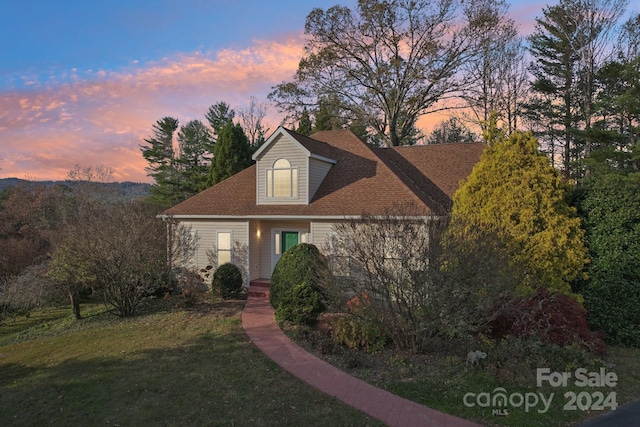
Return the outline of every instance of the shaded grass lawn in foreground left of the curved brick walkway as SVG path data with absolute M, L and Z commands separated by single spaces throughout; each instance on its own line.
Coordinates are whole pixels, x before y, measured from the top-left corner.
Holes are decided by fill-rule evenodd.
M 239 324 L 207 329 L 213 316 L 238 315 L 229 304 L 213 316 L 210 309 L 189 308 L 183 324 L 167 321 L 175 345 L 127 351 L 123 341 L 118 354 L 114 337 L 109 350 L 73 348 L 74 358 L 34 366 L 0 358 L 0 425 L 378 425 L 277 368 Z M 181 339 L 193 322 L 198 335 Z

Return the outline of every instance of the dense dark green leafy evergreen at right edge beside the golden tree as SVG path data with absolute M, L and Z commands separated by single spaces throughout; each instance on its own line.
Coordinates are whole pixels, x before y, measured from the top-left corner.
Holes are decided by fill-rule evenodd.
M 635 175 L 635 176 L 634 176 Z M 581 283 L 589 322 L 612 344 L 640 347 L 639 174 L 593 175 L 577 205 L 591 262 Z

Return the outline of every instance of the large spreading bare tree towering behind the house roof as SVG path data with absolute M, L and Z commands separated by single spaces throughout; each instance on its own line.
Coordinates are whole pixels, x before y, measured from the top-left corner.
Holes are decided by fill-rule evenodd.
M 293 82 L 269 95 L 300 117 L 303 107 L 330 96 L 336 111 L 359 121 L 386 145 L 416 142 L 419 117 L 466 83 L 461 65 L 476 53 L 489 0 L 360 1 L 356 11 L 314 9 L 309 39 Z

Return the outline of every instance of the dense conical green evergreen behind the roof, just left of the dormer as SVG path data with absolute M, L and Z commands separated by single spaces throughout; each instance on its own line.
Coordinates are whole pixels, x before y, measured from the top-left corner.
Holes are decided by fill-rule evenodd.
M 242 127 L 228 121 L 218 134 L 208 184 L 217 184 L 251 166 L 251 146 Z

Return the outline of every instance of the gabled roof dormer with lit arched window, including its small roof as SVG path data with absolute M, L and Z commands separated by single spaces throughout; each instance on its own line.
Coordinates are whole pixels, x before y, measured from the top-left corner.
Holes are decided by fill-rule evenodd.
M 258 205 L 308 205 L 336 161 L 331 146 L 280 126 L 255 152 Z

